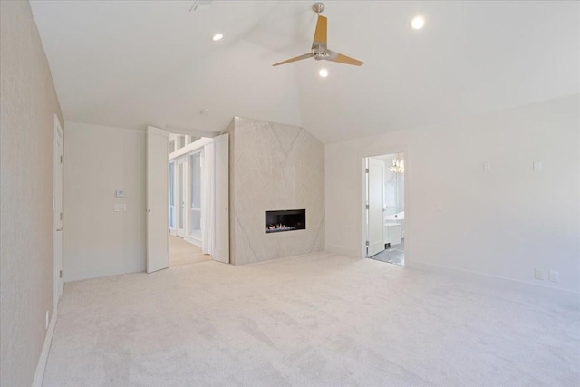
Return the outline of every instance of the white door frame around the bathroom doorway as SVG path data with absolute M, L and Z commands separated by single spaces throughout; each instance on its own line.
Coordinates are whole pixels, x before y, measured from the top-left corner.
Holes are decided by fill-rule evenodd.
M 368 157 L 378 157 L 386 154 L 402 153 L 405 160 L 405 181 L 404 181 L 404 198 L 405 198 L 405 265 L 410 266 L 412 262 L 412 214 L 413 214 L 413 203 L 411 199 L 411 181 L 412 181 L 412 162 L 411 162 L 411 151 L 408 145 L 401 145 L 395 147 L 385 147 L 380 151 L 374 151 L 369 154 L 362 155 L 361 157 L 361 169 L 360 169 L 360 219 L 361 219 L 361 234 L 359 246 L 361 247 L 360 257 L 366 258 L 366 240 L 368 237 L 368 227 L 366 224 L 366 158 Z

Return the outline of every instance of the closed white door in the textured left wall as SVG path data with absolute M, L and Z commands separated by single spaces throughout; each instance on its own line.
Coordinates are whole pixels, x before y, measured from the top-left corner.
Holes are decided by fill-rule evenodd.
M 63 295 L 63 129 L 54 114 L 53 160 L 53 267 L 54 307 Z

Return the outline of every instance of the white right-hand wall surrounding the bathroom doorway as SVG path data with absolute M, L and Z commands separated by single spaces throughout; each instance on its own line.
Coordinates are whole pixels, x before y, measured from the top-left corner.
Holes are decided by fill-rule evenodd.
M 361 256 L 362 157 L 406 149 L 407 264 L 580 291 L 579 105 L 575 94 L 326 145 L 326 249 Z

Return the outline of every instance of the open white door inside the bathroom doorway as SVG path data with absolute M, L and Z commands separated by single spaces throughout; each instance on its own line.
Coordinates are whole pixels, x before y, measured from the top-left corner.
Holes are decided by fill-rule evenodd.
M 384 161 L 369 158 L 369 250 L 374 256 L 384 250 L 384 216 L 382 214 L 384 189 Z

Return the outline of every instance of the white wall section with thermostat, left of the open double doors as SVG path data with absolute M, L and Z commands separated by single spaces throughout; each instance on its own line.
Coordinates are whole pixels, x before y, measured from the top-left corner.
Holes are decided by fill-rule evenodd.
M 145 131 L 66 121 L 64 137 L 64 280 L 145 270 Z

